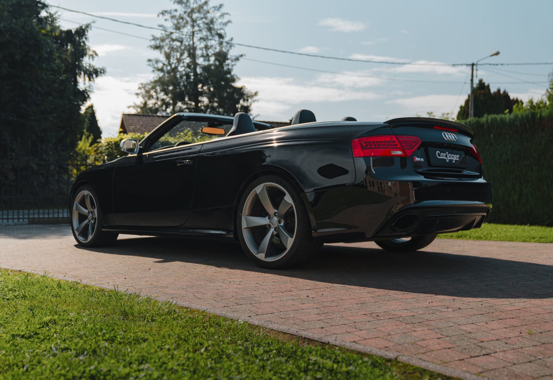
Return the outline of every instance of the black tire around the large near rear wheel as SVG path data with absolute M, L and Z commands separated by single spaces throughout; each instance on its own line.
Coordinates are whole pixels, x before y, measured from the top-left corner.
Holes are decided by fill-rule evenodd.
M 273 235 L 273 237 L 268 240 L 269 243 L 267 246 L 267 252 L 273 249 L 273 252 L 276 252 L 276 254 L 274 254 L 274 256 L 268 255 L 267 258 L 265 258 L 265 254 L 263 254 L 264 259 L 260 259 L 260 256 L 252 251 L 251 246 L 253 246 L 254 244 L 258 244 L 258 248 L 260 248 L 263 244 L 263 241 L 259 242 L 259 237 L 269 236 L 272 225 L 269 224 L 271 222 L 269 214 L 266 211 L 266 208 L 262 205 L 259 195 L 257 195 L 257 193 L 254 193 L 253 191 L 259 188 L 259 186 L 264 186 L 265 184 L 267 184 L 267 186 L 274 185 L 273 190 L 276 192 L 276 196 L 274 197 L 274 199 L 276 200 L 275 203 L 278 202 L 278 204 L 274 205 L 274 207 L 279 207 L 279 205 L 283 204 L 282 200 L 284 199 L 284 197 L 282 199 L 279 199 L 278 197 L 278 194 L 282 189 L 288 192 L 288 195 L 290 197 L 288 199 L 291 199 L 293 207 L 290 207 L 288 211 L 284 213 L 284 216 L 278 216 L 279 224 L 276 225 L 276 228 L 274 228 L 274 230 L 278 230 L 278 228 L 280 227 L 280 232 L 274 232 L 275 235 Z M 281 189 L 278 189 L 278 186 L 280 186 Z M 271 191 L 270 188 L 268 189 L 268 191 Z M 275 194 L 275 192 L 273 192 L 273 195 Z M 257 200 L 252 200 L 254 199 L 252 197 L 255 196 L 257 196 Z M 244 210 L 246 210 L 244 209 L 244 205 L 246 205 L 247 201 L 248 207 L 250 207 L 250 205 L 253 208 L 257 207 L 256 210 L 261 213 L 259 217 L 268 218 L 267 225 L 246 228 L 246 231 L 244 231 L 244 219 L 242 216 Z M 250 213 L 249 215 L 253 214 Z M 246 215 L 246 217 L 247 216 L 248 215 Z M 280 220 L 280 218 L 282 218 L 282 220 Z M 280 222 L 282 222 L 282 224 L 280 224 Z M 284 241 L 289 241 L 287 239 L 284 239 L 281 233 L 285 232 L 290 235 L 290 232 L 287 232 L 287 230 L 291 231 L 293 229 L 293 226 L 291 226 L 292 223 L 294 223 L 295 225 L 293 242 L 290 244 L 289 247 L 286 247 L 286 243 Z M 282 227 L 285 228 L 283 229 Z M 311 222 L 299 191 L 295 188 L 293 184 L 290 183 L 288 179 L 280 175 L 264 175 L 262 177 L 259 177 L 252 181 L 252 183 L 246 188 L 246 190 L 244 190 L 242 198 L 238 204 L 236 228 L 238 240 L 240 241 L 240 244 L 242 245 L 242 249 L 244 250 L 244 253 L 246 253 L 246 256 L 252 259 L 255 264 L 263 268 L 281 269 L 300 266 L 301 264 L 314 259 L 316 255 L 320 252 L 323 245 L 321 242 L 316 241 L 311 234 Z M 246 233 L 248 236 L 245 236 L 244 233 Z M 258 233 L 257 243 L 254 237 L 255 233 Z M 282 245 L 280 246 L 280 244 Z M 285 252 L 281 253 L 282 256 L 279 257 L 279 249 L 283 248 L 285 249 Z M 275 259 L 272 259 L 272 257 L 275 257 Z

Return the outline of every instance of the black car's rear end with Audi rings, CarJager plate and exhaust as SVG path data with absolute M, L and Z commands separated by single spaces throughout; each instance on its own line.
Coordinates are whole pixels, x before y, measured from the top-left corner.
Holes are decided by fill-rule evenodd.
M 422 236 L 482 225 L 491 210 L 491 189 L 471 128 L 440 119 L 399 118 L 361 135 L 351 141 L 354 186 L 381 196 L 373 207 L 380 212 L 370 216 L 365 238 Z

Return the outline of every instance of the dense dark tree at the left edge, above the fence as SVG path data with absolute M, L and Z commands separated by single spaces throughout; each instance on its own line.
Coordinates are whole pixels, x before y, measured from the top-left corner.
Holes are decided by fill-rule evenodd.
M 0 2 L 0 158 L 69 157 L 90 83 L 105 72 L 89 30 L 61 29 L 41 0 Z

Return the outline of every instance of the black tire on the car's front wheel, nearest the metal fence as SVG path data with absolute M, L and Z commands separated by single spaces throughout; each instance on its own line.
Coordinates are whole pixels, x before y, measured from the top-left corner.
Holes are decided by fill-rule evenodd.
M 95 218 L 92 218 L 93 232 L 91 237 L 88 234 L 87 236 L 84 236 L 85 232 L 82 230 L 81 230 L 81 233 L 76 232 L 77 226 L 80 225 L 82 222 L 85 222 L 85 219 L 87 219 L 87 217 L 84 214 L 81 214 L 80 212 L 75 210 L 75 207 L 76 207 L 75 203 L 77 201 L 77 197 L 82 195 L 83 192 L 89 192 L 91 194 L 92 202 L 90 202 L 90 204 L 92 204 L 91 208 L 93 209 L 96 215 Z M 86 196 L 86 194 L 84 196 Z M 83 205 L 82 201 L 80 201 L 79 204 L 84 206 L 85 209 L 87 210 L 90 208 L 90 207 L 87 207 L 87 205 Z M 70 206 L 71 206 L 71 209 L 69 210 L 69 217 L 70 217 L 71 231 L 73 232 L 73 237 L 75 238 L 75 241 L 80 246 L 82 247 L 109 246 L 117 240 L 117 236 L 119 235 L 117 232 L 102 231 L 102 226 L 103 226 L 102 209 L 100 207 L 100 204 L 98 204 L 98 196 L 96 194 L 96 191 L 92 188 L 92 186 L 84 185 L 84 186 L 81 186 L 79 189 L 77 189 L 71 197 Z M 75 217 L 77 218 L 77 220 L 75 220 Z M 90 224 L 85 225 L 85 227 L 86 226 L 90 227 Z

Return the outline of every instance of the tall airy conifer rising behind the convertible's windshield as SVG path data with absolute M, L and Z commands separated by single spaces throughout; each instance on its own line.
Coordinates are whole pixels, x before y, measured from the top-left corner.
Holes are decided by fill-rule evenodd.
M 257 95 L 237 86 L 231 55 L 232 44 L 225 28 L 230 23 L 222 4 L 208 0 L 173 0 L 174 9 L 159 13 L 169 26 L 153 38 L 150 48 L 161 58 L 149 59 L 154 79 L 140 85 L 142 99 L 134 105 L 139 113 L 170 115 L 176 112 L 249 113 Z

